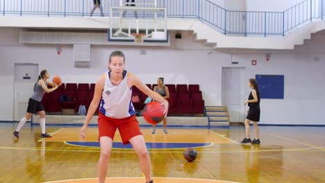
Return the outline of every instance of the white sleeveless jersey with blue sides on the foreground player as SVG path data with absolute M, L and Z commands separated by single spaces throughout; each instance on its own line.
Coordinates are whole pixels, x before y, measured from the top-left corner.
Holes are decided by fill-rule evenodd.
M 128 87 L 128 77 L 126 73 L 127 72 L 124 71 L 122 82 L 115 86 L 110 82 L 110 72 L 106 72 L 108 76 L 103 87 L 99 111 L 110 118 L 124 119 L 135 114 L 131 102 L 132 89 Z

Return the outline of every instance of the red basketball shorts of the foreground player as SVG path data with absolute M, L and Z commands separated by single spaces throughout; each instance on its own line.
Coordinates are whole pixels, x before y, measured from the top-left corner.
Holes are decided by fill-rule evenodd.
M 114 140 L 115 132 L 119 129 L 119 134 L 123 144 L 130 143 L 129 140 L 135 136 L 142 135 L 139 123 L 135 115 L 125 119 L 113 119 L 99 112 L 98 115 L 99 139 L 110 137 Z

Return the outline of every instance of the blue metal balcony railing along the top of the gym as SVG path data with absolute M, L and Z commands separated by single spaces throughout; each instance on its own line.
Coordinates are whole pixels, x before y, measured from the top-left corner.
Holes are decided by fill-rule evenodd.
M 110 8 L 119 6 L 119 0 L 101 0 L 101 5 L 104 15 L 109 16 Z M 92 0 L 0 0 L 0 13 L 3 16 L 89 16 L 92 6 Z M 325 0 L 303 0 L 282 12 L 232 11 L 209 0 L 158 0 L 158 7 L 167 8 L 169 18 L 200 19 L 225 35 L 285 35 L 325 16 Z M 99 12 L 94 13 L 98 15 Z

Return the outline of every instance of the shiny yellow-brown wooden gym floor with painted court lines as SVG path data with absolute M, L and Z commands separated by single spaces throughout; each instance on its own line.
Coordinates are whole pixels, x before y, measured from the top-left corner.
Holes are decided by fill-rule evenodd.
M 76 127 L 47 127 L 52 139 L 40 139 L 38 126 L 26 124 L 20 139 L 11 123 L 0 127 L 0 182 L 97 182 L 97 128 L 81 140 Z M 237 143 L 244 127 L 142 132 L 155 183 L 325 182 L 325 128 L 262 126 L 260 146 Z M 137 155 L 120 141 L 117 134 L 107 182 L 144 183 Z M 188 146 L 199 152 L 195 162 L 183 159 Z

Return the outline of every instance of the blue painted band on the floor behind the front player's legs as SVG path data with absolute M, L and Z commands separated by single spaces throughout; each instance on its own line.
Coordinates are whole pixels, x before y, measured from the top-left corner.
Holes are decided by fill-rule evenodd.
M 73 146 L 99 148 L 99 141 L 67 141 Z M 148 149 L 174 149 L 174 148 L 199 148 L 211 146 L 213 143 L 146 143 Z M 123 145 L 122 142 L 113 142 L 113 148 L 133 149 L 131 143 Z

